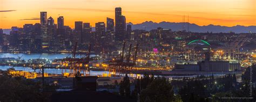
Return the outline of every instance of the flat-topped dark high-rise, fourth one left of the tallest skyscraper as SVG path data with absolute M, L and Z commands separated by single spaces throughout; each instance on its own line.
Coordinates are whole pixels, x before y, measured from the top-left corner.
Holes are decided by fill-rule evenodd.
M 78 43 L 83 43 L 83 21 L 75 21 L 75 32 Z

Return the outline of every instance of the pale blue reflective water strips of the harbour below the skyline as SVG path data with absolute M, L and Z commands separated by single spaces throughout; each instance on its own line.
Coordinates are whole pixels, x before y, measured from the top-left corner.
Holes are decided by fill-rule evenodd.
M 31 53 L 31 54 L 25 54 L 25 53 L 0 53 L 0 57 L 14 57 L 18 59 L 18 57 L 21 57 L 21 60 L 30 60 L 30 59 L 49 59 L 49 60 L 54 60 L 54 59 L 63 59 L 65 57 L 71 57 L 72 54 L 48 54 L 48 53 Z M 80 56 L 85 56 L 85 55 L 77 55 L 76 57 Z M 91 55 L 97 56 L 97 55 Z M 0 70 L 7 70 L 8 68 L 11 68 L 9 65 L 0 65 Z M 41 69 L 32 69 L 29 67 L 14 67 L 15 70 L 23 70 L 23 71 L 29 71 L 29 72 L 42 72 Z M 62 74 L 62 72 L 65 72 L 65 69 L 45 69 L 44 70 L 48 74 Z M 67 69 L 66 72 L 69 72 Z M 97 76 L 100 75 L 102 76 L 103 74 L 109 74 L 109 71 L 90 71 L 90 76 Z M 131 74 L 129 75 L 131 77 L 138 77 L 138 76 L 143 76 L 140 74 Z M 218 76 L 218 75 L 217 75 Z M 196 76 L 165 76 L 167 78 L 182 78 L 182 77 L 196 77 Z

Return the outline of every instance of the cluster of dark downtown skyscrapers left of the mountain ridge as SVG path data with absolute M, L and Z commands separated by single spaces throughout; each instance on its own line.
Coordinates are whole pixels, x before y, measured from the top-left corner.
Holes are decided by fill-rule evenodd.
M 87 49 L 90 44 L 101 48 L 109 43 L 123 42 L 131 34 L 131 25 L 126 33 L 126 19 L 122 8 L 116 8 L 115 20 L 106 18 L 105 22 L 92 24 L 75 21 L 75 28 L 64 25 L 64 17 L 57 18 L 57 24 L 47 12 L 40 12 L 40 23 L 11 27 L 10 35 L 0 29 L 2 52 L 60 52 L 72 50 L 75 43 L 79 49 Z

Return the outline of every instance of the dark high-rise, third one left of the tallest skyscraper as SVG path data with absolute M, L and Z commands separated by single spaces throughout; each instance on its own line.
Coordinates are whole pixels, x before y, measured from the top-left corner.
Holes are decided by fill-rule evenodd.
M 91 28 L 91 26 L 90 26 L 90 23 L 84 23 L 83 24 L 83 40 L 84 40 L 84 42 L 85 41 L 89 41 L 90 40 L 90 34 L 91 34 L 91 31 L 92 31 L 92 28 Z

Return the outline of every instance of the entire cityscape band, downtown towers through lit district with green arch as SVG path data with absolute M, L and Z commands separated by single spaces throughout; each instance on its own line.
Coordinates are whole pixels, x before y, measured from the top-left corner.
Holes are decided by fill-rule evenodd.
M 10 34 L 3 34 L 0 29 L 0 46 L 2 52 L 31 53 L 71 53 L 77 42 L 77 51 L 87 52 L 92 45 L 92 53 L 99 55 L 119 56 L 126 42 L 132 49 L 138 45 L 138 60 L 140 66 L 174 67 L 175 63 L 197 64 L 205 59 L 205 53 L 210 52 L 213 61 L 249 60 L 255 52 L 254 33 L 197 33 L 171 28 L 132 29 L 132 24 L 126 24 L 126 18 L 121 8 L 115 9 L 115 18 L 106 18 L 106 22 L 92 24 L 75 21 L 75 28 L 65 26 L 64 17 L 55 19 L 41 12 L 40 23 L 25 24 L 23 28 L 12 27 Z M 153 25 L 152 21 L 146 21 Z M 183 23 L 184 25 L 186 23 Z M 132 50 L 134 51 L 134 50 Z M 131 52 L 134 53 L 134 52 Z M 126 55 L 126 53 L 124 53 Z M 233 63 L 233 62 L 232 62 Z

